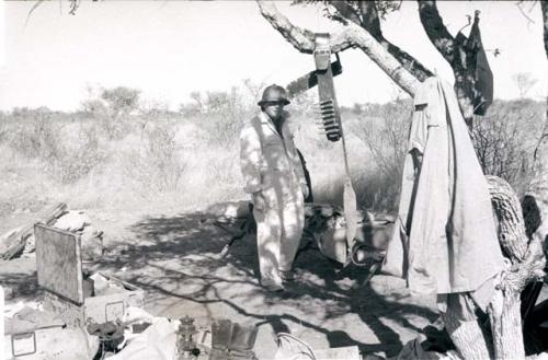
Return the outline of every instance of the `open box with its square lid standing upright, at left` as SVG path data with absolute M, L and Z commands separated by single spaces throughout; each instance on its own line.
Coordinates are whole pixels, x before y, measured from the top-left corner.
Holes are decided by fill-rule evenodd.
M 144 306 L 145 292 L 113 277 L 119 292 L 91 297 L 84 288 L 80 236 L 47 227 L 34 227 L 38 284 L 44 288 L 44 309 L 58 314 L 68 326 L 85 326 L 122 320 L 128 306 Z

